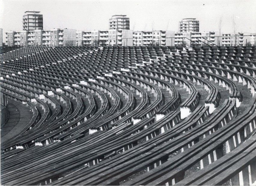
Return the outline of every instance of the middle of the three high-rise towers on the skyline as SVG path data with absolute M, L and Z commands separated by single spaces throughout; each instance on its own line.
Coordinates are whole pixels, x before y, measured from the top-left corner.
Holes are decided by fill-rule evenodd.
M 109 19 L 109 29 L 130 30 L 130 19 L 126 15 L 114 15 Z

